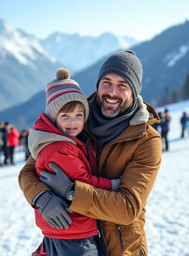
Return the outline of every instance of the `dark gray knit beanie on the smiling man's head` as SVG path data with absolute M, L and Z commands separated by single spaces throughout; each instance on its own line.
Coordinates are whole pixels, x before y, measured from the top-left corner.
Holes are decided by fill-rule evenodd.
M 132 88 L 134 100 L 137 99 L 142 87 L 142 65 L 133 51 L 116 52 L 104 61 L 98 74 L 97 90 L 101 78 L 108 74 L 123 77 Z

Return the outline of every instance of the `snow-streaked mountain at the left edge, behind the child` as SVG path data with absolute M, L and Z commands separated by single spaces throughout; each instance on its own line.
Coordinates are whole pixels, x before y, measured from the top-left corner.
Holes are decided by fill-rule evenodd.
M 44 89 L 61 66 L 34 36 L 0 19 L 0 110 Z

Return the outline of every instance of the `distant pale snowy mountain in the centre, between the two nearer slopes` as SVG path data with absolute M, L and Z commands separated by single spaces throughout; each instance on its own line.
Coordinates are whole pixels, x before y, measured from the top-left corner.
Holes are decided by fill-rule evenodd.
M 131 48 L 137 43 L 132 37 L 115 36 L 110 33 L 92 37 L 56 32 L 40 41 L 41 46 L 49 54 L 77 71 L 92 65 L 111 52 Z

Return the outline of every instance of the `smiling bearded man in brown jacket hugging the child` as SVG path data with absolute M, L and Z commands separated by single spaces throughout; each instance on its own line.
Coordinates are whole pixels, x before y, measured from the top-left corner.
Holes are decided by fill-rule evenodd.
M 145 205 L 160 167 L 162 143 L 159 133 L 151 127 L 160 119 L 139 95 L 141 80 L 142 66 L 135 53 L 117 52 L 103 63 L 97 93 L 88 98 L 90 111 L 84 132 L 92 137 L 99 176 L 122 176 L 118 192 L 79 181 L 75 181 L 74 188 L 56 164 L 53 170 L 57 174 L 50 179 L 42 171 L 56 195 L 61 195 L 61 188 L 67 189 L 67 198 L 72 200 L 70 210 L 101 220 L 99 237 L 107 245 L 107 252 L 101 256 L 147 255 Z M 19 174 L 19 185 L 33 207 L 45 205 L 48 217 L 56 220 L 57 215 L 48 205 L 52 192 L 40 182 L 32 156 Z M 65 213 L 63 216 L 67 217 Z

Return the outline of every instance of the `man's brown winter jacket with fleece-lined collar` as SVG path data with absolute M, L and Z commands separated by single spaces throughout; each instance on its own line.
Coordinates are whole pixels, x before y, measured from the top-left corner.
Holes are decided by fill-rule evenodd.
M 150 126 L 160 119 L 154 108 L 146 105 L 153 118 L 143 124 L 137 124 L 140 118 L 135 118 L 136 125 L 130 124 L 105 145 L 98 157 L 99 176 L 111 180 L 122 175 L 119 190 L 111 192 L 75 182 L 70 209 L 101 220 L 108 256 L 140 256 L 142 249 L 147 256 L 145 205 L 161 164 L 162 143 L 160 134 Z M 99 155 L 97 140 L 89 132 L 88 123 L 84 130 L 93 138 L 95 153 Z M 39 192 L 49 189 L 40 182 L 31 156 L 20 171 L 19 185 L 31 205 Z

